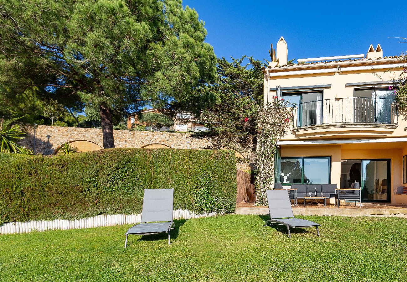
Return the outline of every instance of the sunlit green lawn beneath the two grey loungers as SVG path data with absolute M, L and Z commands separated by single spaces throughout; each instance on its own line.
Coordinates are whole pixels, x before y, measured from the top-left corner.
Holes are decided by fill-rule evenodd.
M 263 227 L 267 216 L 176 220 L 165 235 L 130 225 L 0 236 L 1 281 L 407 281 L 404 218 L 302 216 L 315 228 Z

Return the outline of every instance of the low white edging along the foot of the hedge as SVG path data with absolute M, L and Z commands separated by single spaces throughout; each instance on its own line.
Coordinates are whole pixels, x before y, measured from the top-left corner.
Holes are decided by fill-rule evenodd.
M 219 213 L 195 214 L 188 209 L 177 209 L 173 212 L 174 219 L 200 218 L 206 216 L 217 216 Z M 0 225 L 0 235 L 30 233 L 32 231 L 42 232 L 47 230 L 83 229 L 102 226 L 114 226 L 124 224 L 140 223 L 141 214 L 99 214 L 89 218 L 75 220 L 31 220 L 26 222 L 10 222 Z

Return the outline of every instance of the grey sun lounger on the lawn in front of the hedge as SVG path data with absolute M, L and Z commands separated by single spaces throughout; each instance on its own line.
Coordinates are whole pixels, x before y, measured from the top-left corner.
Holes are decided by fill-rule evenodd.
M 171 227 L 173 223 L 174 189 L 144 189 L 143 208 L 140 224 L 134 225 L 126 232 L 127 236 L 151 235 L 168 233 L 168 245 L 170 245 Z M 166 221 L 157 223 L 157 221 Z

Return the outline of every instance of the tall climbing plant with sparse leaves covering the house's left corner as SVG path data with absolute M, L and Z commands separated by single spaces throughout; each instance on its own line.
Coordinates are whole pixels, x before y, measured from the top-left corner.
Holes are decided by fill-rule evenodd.
M 258 110 L 258 143 L 256 170 L 256 198 L 258 205 L 266 205 L 266 189 L 274 183 L 274 154 L 276 140 L 283 137 L 293 119 L 291 105 L 274 97 L 273 102 Z

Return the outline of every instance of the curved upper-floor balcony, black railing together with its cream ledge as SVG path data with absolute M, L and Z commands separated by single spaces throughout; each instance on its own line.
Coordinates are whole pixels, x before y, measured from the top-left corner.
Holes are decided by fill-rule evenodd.
M 398 126 L 396 101 L 388 98 L 325 99 L 300 103 L 292 109 L 296 134 L 335 130 L 333 128 L 347 131 L 370 128 L 370 131 L 391 133 Z

